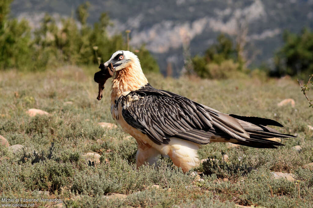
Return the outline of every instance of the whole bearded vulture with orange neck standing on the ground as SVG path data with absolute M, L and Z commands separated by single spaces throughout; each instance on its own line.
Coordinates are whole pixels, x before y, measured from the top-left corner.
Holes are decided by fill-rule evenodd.
M 115 70 L 112 72 L 111 114 L 137 141 L 137 167 L 145 162 L 155 163 L 162 154 L 187 172 L 199 165 L 197 151 L 200 145 L 231 142 L 256 148 L 277 148 L 283 144 L 268 138 L 295 137 L 267 126 L 282 127 L 277 121 L 224 114 L 181 95 L 152 87 L 142 72 L 138 57 L 132 52 L 115 52 L 102 67 L 109 65 Z

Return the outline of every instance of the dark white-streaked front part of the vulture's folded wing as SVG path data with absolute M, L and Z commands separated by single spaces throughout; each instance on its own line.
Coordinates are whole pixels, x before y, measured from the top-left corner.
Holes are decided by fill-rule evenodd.
M 122 115 L 129 125 L 147 134 L 155 143 L 168 142 L 170 137 L 199 144 L 209 143 L 210 136 L 213 136 L 209 130 L 213 124 L 208 120 L 210 116 L 206 110 L 200 109 L 201 106 L 180 95 L 152 87 L 127 96 L 135 94 L 141 99 L 131 102 L 129 107 L 122 106 Z M 122 105 L 127 105 L 126 97 L 121 101 Z

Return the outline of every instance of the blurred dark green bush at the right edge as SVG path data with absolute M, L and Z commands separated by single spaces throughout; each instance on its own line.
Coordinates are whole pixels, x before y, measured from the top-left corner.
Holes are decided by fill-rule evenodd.
M 304 78 L 313 72 L 313 32 L 304 28 L 300 34 L 285 31 L 285 45 L 274 57 L 272 76 L 290 75 Z

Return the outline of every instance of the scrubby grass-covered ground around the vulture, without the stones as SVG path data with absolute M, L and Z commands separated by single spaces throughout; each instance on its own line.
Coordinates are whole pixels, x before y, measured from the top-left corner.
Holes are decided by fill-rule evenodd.
M 313 126 L 313 111 L 295 80 L 147 76 L 156 88 L 225 113 L 275 119 L 285 126 L 280 131 L 298 136 L 269 150 L 205 145 L 200 159 L 217 160 L 192 170 L 203 172 L 204 180 L 194 182 L 192 171 L 184 174 L 167 158 L 161 158 L 158 167 L 136 170 L 135 140 L 120 127 L 106 130 L 97 125 L 114 121 L 110 83 L 103 100 L 97 101 L 95 71 L 96 67 L 62 67 L 28 74 L 0 72 L 0 135 L 10 145 L 24 146 L 16 153 L 0 147 L 0 198 L 56 198 L 62 200 L 58 206 L 67 207 L 312 207 L 313 173 L 301 166 L 313 162 L 313 131 L 307 127 Z M 278 107 L 285 98 L 294 99 L 295 107 Z M 73 104 L 64 104 L 69 101 Z M 50 115 L 30 117 L 25 113 L 29 108 Z M 292 149 L 296 145 L 302 150 Z M 100 164 L 88 165 L 82 155 L 90 151 L 101 155 Z M 223 161 L 223 154 L 229 161 Z M 292 173 L 296 180 L 274 179 L 273 171 Z M 112 193 L 127 197 L 105 197 Z M 38 207 L 56 204 L 35 202 Z

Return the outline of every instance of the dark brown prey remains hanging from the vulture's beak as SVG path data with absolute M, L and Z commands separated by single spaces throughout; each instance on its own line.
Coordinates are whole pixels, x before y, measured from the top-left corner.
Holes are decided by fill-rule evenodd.
M 115 69 L 112 63 L 110 63 L 110 65 L 107 67 L 103 63 L 101 63 L 99 66 L 99 69 L 101 70 L 99 72 L 96 72 L 94 76 L 95 82 L 99 84 L 99 93 L 98 93 L 97 100 L 101 100 L 102 90 L 104 89 L 104 84 L 107 79 L 109 79 L 110 77 L 113 77 L 113 74 L 115 72 Z

